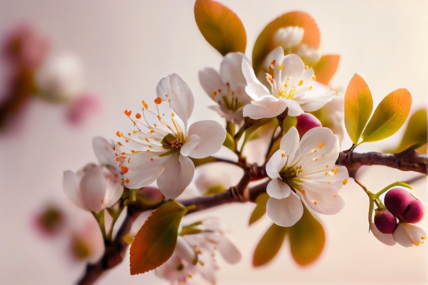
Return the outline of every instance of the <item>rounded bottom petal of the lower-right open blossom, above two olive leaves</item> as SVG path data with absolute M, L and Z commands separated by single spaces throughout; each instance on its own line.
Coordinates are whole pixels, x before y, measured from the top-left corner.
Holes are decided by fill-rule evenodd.
M 289 197 L 280 200 L 269 198 L 266 213 L 278 226 L 291 227 L 302 218 L 302 201 L 294 192 L 291 192 Z

